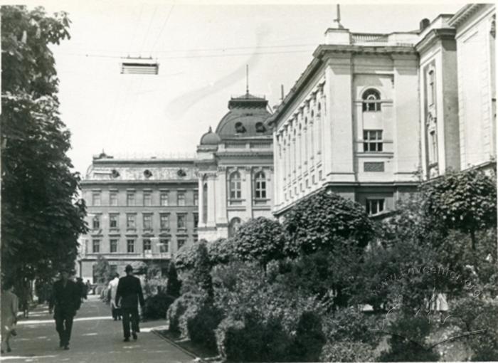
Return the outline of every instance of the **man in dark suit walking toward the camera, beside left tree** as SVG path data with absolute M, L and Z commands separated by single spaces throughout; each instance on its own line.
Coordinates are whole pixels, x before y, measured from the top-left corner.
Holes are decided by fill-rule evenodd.
M 69 349 L 73 318 L 81 305 L 80 289 L 68 277 L 67 270 L 60 271 L 60 280 L 53 284 L 55 330 L 59 333 L 59 347 L 66 350 Z

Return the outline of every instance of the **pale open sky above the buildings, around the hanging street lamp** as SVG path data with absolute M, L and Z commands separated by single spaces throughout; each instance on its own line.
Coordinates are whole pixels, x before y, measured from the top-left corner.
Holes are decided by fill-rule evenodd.
M 72 133 L 69 152 L 85 175 L 92 156 L 194 157 L 228 100 L 265 95 L 270 106 L 312 61 L 332 26 L 336 4 L 262 1 L 36 1 L 48 13 L 67 11 L 70 40 L 53 46 L 60 112 Z M 353 32 L 418 28 L 421 19 L 454 14 L 463 3 L 341 3 Z M 158 75 L 122 75 L 122 57 L 152 56 Z

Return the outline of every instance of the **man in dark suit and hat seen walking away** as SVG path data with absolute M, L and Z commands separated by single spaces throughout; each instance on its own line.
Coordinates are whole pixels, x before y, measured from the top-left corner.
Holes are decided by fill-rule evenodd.
M 133 339 L 137 340 L 137 332 L 140 332 L 138 326 L 138 304 L 140 303 L 140 306 L 143 308 L 145 302 L 140 279 L 134 277 L 132 266 L 127 265 L 124 271 L 126 272 L 126 276 L 120 278 L 120 282 L 117 284 L 115 303 L 116 306 L 121 306 L 124 342 L 129 342 L 130 316 Z

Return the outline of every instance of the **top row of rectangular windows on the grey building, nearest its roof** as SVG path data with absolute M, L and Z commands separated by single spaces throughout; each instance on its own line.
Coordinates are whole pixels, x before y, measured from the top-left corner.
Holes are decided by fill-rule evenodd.
M 109 193 L 109 205 L 117 206 L 117 197 L 118 191 L 110 191 Z M 176 206 L 185 206 L 186 205 L 186 192 L 178 191 L 176 193 Z M 92 191 L 92 206 L 101 206 L 102 205 L 102 194 L 100 191 Z M 126 205 L 127 206 L 137 206 L 137 196 L 134 191 L 127 191 L 126 194 Z M 144 191 L 142 196 L 142 205 L 143 206 L 152 206 L 152 191 Z M 169 206 L 171 205 L 171 200 L 168 191 L 161 191 L 159 194 L 159 205 L 160 206 Z M 198 192 L 194 191 L 194 206 L 198 205 Z

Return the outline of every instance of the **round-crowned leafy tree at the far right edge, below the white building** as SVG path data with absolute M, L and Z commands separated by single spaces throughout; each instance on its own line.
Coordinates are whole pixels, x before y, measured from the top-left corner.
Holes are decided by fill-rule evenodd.
M 425 184 L 425 212 L 447 229 L 469 233 L 476 249 L 476 231 L 497 227 L 496 180 L 471 169 L 448 172 Z

